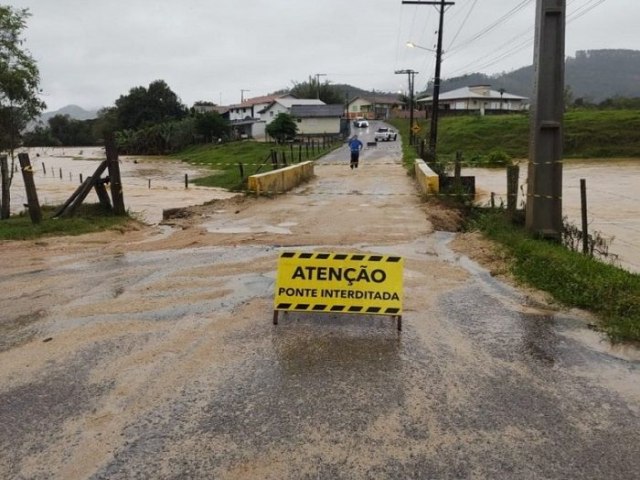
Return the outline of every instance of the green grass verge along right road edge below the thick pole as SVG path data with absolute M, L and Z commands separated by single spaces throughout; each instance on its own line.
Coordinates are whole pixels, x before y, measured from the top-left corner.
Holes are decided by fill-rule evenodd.
M 566 306 L 593 312 L 614 342 L 640 341 L 640 275 L 532 238 L 511 225 L 503 212 L 476 210 L 469 228 L 506 249 L 518 281 Z

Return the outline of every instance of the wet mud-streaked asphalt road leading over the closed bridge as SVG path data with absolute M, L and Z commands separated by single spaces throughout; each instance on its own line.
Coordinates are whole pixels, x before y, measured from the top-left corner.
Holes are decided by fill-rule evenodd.
M 453 253 L 394 176 L 398 143 L 357 178 L 342 148 L 288 198 L 209 215 L 212 245 L 0 260 L 0 477 L 637 478 L 637 350 Z M 274 327 L 274 259 L 294 246 L 405 257 L 404 330 Z

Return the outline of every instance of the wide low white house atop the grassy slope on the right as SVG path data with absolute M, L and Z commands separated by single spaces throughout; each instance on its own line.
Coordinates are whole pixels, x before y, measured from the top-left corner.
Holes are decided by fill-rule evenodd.
M 419 98 L 418 105 L 431 109 L 433 96 Z M 529 99 L 507 93 L 504 89 L 491 90 L 490 85 L 472 85 L 441 93 L 438 111 L 451 113 L 509 113 L 529 110 Z

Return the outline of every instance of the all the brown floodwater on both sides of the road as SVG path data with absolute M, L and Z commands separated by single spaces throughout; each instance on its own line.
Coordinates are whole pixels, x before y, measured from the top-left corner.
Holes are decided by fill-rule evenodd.
M 35 169 L 38 197 L 43 205 L 64 202 L 105 159 L 101 148 L 37 148 L 29 150 Z M 209 175 L 210 170 L 175 160 L 145 157 L 121 157 L 120 169 L 125 205 L 147 223 L 162 220 L 162 210 L 202 204 L 234 194 L 223 189 L 184 185 L 189 179 Z M 488 204 L 491 192 L 496 202 L 506 203 L 504 169 L 465 168 L 463 175 L 476 177 L 477 201 Z M 520 164 L 518 206 L 526 191 L 527 164 Z M 640 159 L 591 159 L 566 161 L 563 168 L 563 213 L 580 225 L 580 179 L 587 182 L 589 231 L 598 232 L 610 242 L 609 252 L 619 266 L 640 272 Z M 26 194 L 21 175 L 15 175 L 11 187 L 12 209 L 24 208 Z M 97 201 L 92 193 L 89 201 Z

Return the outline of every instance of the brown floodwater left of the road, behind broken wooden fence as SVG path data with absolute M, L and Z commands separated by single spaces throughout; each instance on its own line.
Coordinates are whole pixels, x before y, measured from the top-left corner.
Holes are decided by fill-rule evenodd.
M 27 150 L 34 167 L 35 184 L 41 205 L 63 203 L 105 160 L 104 149 L 96 147 L 32 148 Z M 162 220 L 162 210 L 199 205 L 213 199 L 234 196 L 220 188 L 185 188 L 185 175 L 189 181 L 211 175 L 211 170 L 186 162 L 161 157 L 122 156 L 120 172 L 125 206 L 140 220 L 155 224 Z M 103 174 L 103 176 L 105 176 Z M 11 185 L 11 209 L 18 213 L 27 203 L 22 176 L 14 176 Z M 97 202 L 95 193 L 88 202 Z

